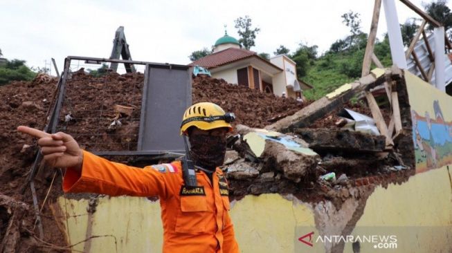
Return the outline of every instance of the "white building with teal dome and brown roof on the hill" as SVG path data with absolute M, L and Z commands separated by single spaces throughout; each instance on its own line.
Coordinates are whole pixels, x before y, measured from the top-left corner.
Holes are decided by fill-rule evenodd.
M 207 68 L 212 77 L 225 79 L 230 84 L 278 96 L 285 93 L 287 97 L 301 97 L 302 91 L 313 88 L 297 79 L 296 63 L 286 55 L 266 60 L 253 51 L 243 49 L 239 41 L 227 33 L 217 39 L 213 54 L 189 65 Z

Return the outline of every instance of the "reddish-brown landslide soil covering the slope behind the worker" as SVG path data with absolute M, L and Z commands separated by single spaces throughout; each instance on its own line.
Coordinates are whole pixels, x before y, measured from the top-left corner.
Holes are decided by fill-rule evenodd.
M 59 115 L 57 130 L 71 133 L 87 150 L 135 150 L 143 79 L 143 74 L 140 73 L 109 73 L 103 77 L 87 75 L 83 70 L 73 73 L 66 83 L 66 99 Z M 33 248 L 37 252 L 49 250 L 48 247 L 42 247 L 43 243 L 35 240 L 37 227 L 33 229 L 33 200 L 30 187 L 26 184 L 37 152 L 36 141 L 17 133 L 16 128 L 25 125 L 44 129 L 56 87 L 56 78 L 11 82 L 0 87 L 0 194 L 12 197 L 17 202 L 22 201 L 30 207 L 21 216 L 22 222 L 18 223 L 21 237 L 17 239 L 17 252 L 21 248 Z M 210 77 L 193 79 L 192 101 L 215 102 L 225 111 L 236 114 L 235 124 L 259 128 L 269 124 L 271 119 L 291 115 L 304 106 L 290 98 L 284 99 L 246 87 L 233 86 L 222 79 Z M 114 111 L 115 104 L 130 106 L 134 110 L 132 115 L 119 115 L 121 127 L 109 128 L 118 115 Z M 66 115 L 70 115 L 71 119 L 65 120 Z M 57 196 L 62 195 L 62 173 L 64 171 L 44 167 L 35 178 L 39 207 L 48 196 L 42 209 L 44 241 L 58 246 L 64 246 L 66 242 L 63 233 L 55 225 L 55 216 L 49 203 L 55 203 Z M 24 187 L 26 191 L 21 194 Z M 8 208 L 0 207 L 0 241 L 8 227 L 8 219 L 11 218 Z M 25 244 L 29 247 L 24 247 Z

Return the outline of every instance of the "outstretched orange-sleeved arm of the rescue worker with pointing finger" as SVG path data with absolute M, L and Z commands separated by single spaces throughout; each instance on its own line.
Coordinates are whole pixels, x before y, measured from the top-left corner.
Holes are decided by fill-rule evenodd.
M 139 169 L 82 151 L 74 138 L 66 133 L 45 133 L 20 126 L 21 133 L 39 140 L 46 164 L 68 168 L 63 180 L 65 192 L 92 192 L 110 196 L 167 196 L 167 181 L 174 175 L 163 175 L 148 167 Z

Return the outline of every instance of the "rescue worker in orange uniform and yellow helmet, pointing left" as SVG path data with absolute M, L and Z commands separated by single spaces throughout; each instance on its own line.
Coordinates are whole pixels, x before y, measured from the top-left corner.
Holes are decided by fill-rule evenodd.
M 226 115 L 217 104 L 208 102 L 190 106 L 183 115 L 181 134 L 188 135 L 197 168 L 195 188 L 184 186 L 180 161 L 139 169 L 84 151 L 66 133 L 49 134 L 23 126 L 17 130 L 39 138 L 48 165 L 67 168 L 64 192 L 159 196 L 163 252 L 236 253 L 228 185 L 218 168 L 224 162 L 226 133 L 232 130 Z M 206 120 L 209 116 L 216 120 Z

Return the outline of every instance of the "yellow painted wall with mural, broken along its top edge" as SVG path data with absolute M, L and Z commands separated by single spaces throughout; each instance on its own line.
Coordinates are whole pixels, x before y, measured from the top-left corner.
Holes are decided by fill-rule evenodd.
M 280 194 L 235 200 L 241 252 L 452 252 L 452 98 L 405 78 L 418 173 L 387 187 L 354 187 L 339 209 Z M 104 196 L 93 214 L 89 199 L 62 196 L 58 205 L 78 252 L 161 252 L 158 200 Z

